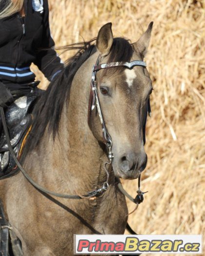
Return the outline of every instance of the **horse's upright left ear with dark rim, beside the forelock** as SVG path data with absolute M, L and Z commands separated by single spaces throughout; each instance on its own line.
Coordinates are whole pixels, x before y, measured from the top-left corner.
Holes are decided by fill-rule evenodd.
M 101 56 L 106 56 L 109 54 L 112 42 L 112 23 L 109 22 L 101 27 L 97 35 L 96 46 Z

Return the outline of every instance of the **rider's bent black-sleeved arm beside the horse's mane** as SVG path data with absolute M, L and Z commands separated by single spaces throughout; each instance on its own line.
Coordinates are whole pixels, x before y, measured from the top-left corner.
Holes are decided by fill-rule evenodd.
M 49 27 L 48 0 L 44 0 L 43 7 L 43 40 L 40 47 L 42 50 L 37 50 L 37 58 L 34 64 L 36 64 L 44 76 L 51 81 L 63 69 L 64 65 L 54 50 L 55 43 L 51 37 Z

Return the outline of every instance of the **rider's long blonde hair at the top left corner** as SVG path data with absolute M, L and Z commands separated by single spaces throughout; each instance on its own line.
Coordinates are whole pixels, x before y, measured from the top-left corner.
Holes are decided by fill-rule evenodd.
M 6 18 L 19 12 L 23 7 L 24 0 L 0 0 L 2 2 L 8 2 L 3 10 L 0 10 L 0 19 Z

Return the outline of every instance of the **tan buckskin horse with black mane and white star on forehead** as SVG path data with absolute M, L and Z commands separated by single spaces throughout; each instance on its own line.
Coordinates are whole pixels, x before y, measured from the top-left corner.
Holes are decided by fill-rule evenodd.
M 152 23 L 133 44 L 113 38 L 112 23 L 107 23 L 96 44 L 72 45 L 78 52 L 38 99 L 21 159 L 29 176 L 51 191 L 70 195 L 84 195 L 106 180 L 109 187 L 99 197 L 71 200 L 43 193 L 22 173 L 0 180 L 6 217 L 24 256 L 71 256 L 74 234 L 124 234 L 128 208 L 117 183 L 119 178 L 138 178 L 146 167 L 145 124 L 152 84 L 145 66 L 96 72 L 95 89 L 112 138 L 112 166 L 106 172 L 102 123 L 96 104 L 89 105 L 92 70 L 97 59 L 98 65 L 142 62 Z

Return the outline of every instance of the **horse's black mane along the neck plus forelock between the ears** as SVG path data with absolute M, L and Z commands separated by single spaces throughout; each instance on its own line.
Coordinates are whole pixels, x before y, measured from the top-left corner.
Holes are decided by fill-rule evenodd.
M 47 90 L 38 99 L 33 111 L 34 125 L 28 137 L 28 143 L 26 143 L 26 151 L 38 145 L 47 127 L 48 132 L 55 139 L 63 105 L 69 102 L 70 88 L 75 73 L 96 52 L 96 47 L 92 44 L 94 40 L 63 47 L 64 50 L 77 49 L 77 53 L 67 60 L 64 70 L 49 84 Z M 132 54 L 133 48 L 128 40 L 115 38 L 109 62 L 130 61 Z

